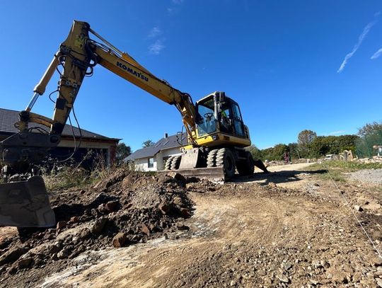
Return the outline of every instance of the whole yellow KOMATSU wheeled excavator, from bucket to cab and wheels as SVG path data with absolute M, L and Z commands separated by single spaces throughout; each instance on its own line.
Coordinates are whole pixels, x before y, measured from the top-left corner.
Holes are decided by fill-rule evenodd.
M 98 40 L 89 38 L 89 33 Z M 90 28 L 86 22 L 74 21 L 68 38 L 59 46 L 50 66 L 34 88 L 33 98 L 19 114 L 19 131 L 0 142 L 1 169 L 4 184 L 0 185 L 0 226 L 54 226 L 45 183 L 36 174 L 36 167 L 57 146 L 62 130 L 76 100 L 85 76 L 93 74 L 97 64 L 164 102 L 175 105 L 182 115 L 187 132 L 187 146 L 180 156 L 166 161 L 166 171 L 185 176 L 227 180 L 236 172 L 250 175 L 254 166 L 267 172 L 262 161 L 254 161 L 244 147 L 250 145 L 248 127 L 241 111 L 224 92 L 214 92 L 195 104 L 164 80 L 158 79 L 129 54 L 118 50 Z M 60 69 L 61 68 L 61 69 Z M 52 119 L 32 113 L 37 98 L 45 93 L 55 71 L 59 86 Z M 49 131 L 33 129 L 39 123 Z

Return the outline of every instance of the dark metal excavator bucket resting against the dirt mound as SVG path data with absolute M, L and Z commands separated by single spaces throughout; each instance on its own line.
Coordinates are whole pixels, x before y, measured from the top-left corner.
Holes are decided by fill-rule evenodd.
M 41 176 L 0 185 L 0 226 L 50 227 L 55 224 Z

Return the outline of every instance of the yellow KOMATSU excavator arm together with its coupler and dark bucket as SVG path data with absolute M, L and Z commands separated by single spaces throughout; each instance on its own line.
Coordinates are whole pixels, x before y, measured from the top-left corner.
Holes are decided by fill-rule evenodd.
M 98 41 L 89 37 L 89 33 Z M 54 213 L 50 208 L 43 180 L 35 174 L 35 166 L 57 146 L 62 130 L 83 79 L 93 74 L 97 64 L 134 83 L 180 111 L 188 140 L 197 146 L 195 105 L 187 93 L 170 86 L 142 67 L 127 53 L 117 50 L 108 41 L 91 30 L 86 22 L 74 21 L 68 38 L 54 54 L 50 66 L 34 88 L 33 98 L 19 114 L 16 127 L 20 132 L 0 142 L 3 181 L 0 187 L 0 226 L 53 226 Z M 57 98 L 52 119 L 32 113 L 37 98 L 45 93 L 47 83 L 55 71 L 60 74 Z M 45 125 L 47 130 L 33 132 L 32 123 Z

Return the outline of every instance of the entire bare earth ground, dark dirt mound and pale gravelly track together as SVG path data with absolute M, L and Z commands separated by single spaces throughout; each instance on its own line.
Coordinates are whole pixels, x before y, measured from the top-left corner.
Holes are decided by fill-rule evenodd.
M 334 183 L 310 165 L 52 193 L 62 227 L 0 228 L 0 287 L 382 287 L 381 171 Z

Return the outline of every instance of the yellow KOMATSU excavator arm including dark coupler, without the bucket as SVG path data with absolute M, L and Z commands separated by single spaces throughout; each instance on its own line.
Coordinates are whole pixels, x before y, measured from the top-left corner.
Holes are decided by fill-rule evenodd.
M 98 42 L 89 37 L 90 33 L 98 38 Z M 93 74 L 93 67 L 97 64 L 134 83 L 156 98 L 175 105 L 182 115 L 189 143 L 192 146 L 198 146 L 195 141 L 197 129 L 195 105 L 191 96 L 173 88 L 166 81 L 158 79 L 129 54 L 121 52 L 91 30 L 88 23 L 74 21 L 68 37 L 62 42 L 42 79 L 35 86 L 33 98 L 27 108 L 20 113 L 20 120 L 16 123 L 20 132 L 0 144 L 2 161 L 6 165 L 3 169 L 4 178 L 8 179 L 9 175 L 14 173 L 27 173 L 32 166 L 37 165 L 44 158 L 49 149 L 59 144 L 62 130 L 83 79 Z M 50 119 L 32 113 L 31 110 L 37 98 L 45 93 L 47 83 L 52 79 L 55 71 L 59 71 L 60 78 L 54 115 Z M 49 131 L 45 134 L 35 133 L 30 123 L 45 125 Z

